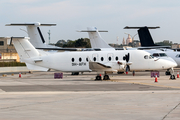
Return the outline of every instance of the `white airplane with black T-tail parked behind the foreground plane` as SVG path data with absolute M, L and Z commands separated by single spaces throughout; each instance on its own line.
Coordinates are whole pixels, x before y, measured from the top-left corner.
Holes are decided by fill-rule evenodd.
M 151 53 L 155 57 L 163 57 L 163 58 L 172 58 L 176 63 L 177 67 L 180 67 L 180 52 L 174 51 L 170 46 L 160 46 L 154 44 L 153 38 L 149 32 L 149 29 L 156 29 L 160 27 L 128 27 L 126 26 L 124 29 L 138 29 L 138 35 L 141 42 L 141 46 L 137 49 L 148 49 L 149 53 Z M 167 57 L 168 56 L 168 57 Z M 166 71 L 166 75 L 170 75 L 169 70 Z

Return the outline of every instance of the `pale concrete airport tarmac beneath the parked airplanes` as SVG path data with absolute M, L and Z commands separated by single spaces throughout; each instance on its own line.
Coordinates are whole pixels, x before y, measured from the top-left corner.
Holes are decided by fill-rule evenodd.
M 108 81 L 94 81 L 95 73 L 0 75 L 1 120 L 180 119 L 180 78 L 164 72 L 157 83 L 150 72 L 113 74 Z

